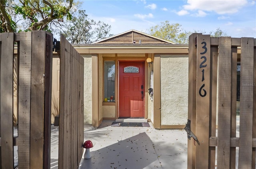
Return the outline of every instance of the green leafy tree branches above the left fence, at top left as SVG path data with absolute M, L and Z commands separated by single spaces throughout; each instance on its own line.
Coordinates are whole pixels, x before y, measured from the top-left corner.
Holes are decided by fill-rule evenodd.
M 1 31 L 49 31 L 49 23 L 72 18 L 72 4 L 73 0 L 1 0 Z

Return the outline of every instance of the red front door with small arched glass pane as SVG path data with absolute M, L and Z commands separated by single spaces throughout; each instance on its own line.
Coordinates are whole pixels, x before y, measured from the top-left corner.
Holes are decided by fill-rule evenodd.
M 144 117 L 144 62 L 119 62 L 119 117 Z

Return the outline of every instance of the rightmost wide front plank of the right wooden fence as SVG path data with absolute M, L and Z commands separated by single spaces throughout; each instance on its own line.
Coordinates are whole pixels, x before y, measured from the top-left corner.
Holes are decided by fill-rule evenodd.
M 240 140 L 238 167 L 252 167 L 254 39 L 241 38 Z

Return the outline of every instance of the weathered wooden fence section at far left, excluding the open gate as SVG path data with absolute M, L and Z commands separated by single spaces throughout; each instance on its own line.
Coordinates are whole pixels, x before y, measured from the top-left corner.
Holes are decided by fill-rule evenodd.
M 15 145 L 19 168 L 49 168 L 52 35 L 45 31 L 1 33 L 0 39 L 0 168 L 14 168 Z M 13 85 L 16 78 L 17 105 Z M 14 137 L 13 130 L 14 107 L 18 110 L 18 137 Z

